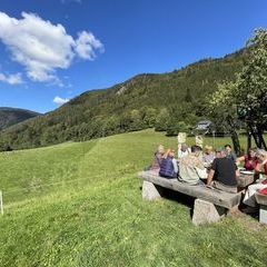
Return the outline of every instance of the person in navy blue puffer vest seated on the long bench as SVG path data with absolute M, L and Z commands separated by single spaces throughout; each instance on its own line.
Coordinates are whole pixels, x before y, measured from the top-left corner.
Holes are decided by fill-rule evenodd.
M 175 150 L 168 149 L 160 164 L 159 176 L 165 178 L 177 178 L 178 164 L 175 159 Z

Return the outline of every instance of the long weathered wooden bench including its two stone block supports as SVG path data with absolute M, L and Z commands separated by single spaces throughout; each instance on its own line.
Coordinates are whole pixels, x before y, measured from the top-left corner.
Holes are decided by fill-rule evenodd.
M 236 208 L 241 194 L 230 194 L 210 189 L 205 185 L 191 186 L 177 179 L 159 177 L 154 171 L 141 171 L 138 177 L 142 180 L 142 198 L 155 200 L 161 197 L 162 188 L 168 188 L 196 198 L 194 204 L 192 222 L 200 225 L 218 221 Z

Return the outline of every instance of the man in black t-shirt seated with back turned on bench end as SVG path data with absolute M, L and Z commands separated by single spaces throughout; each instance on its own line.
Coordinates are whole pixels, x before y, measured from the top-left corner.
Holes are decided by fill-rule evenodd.
M 237 192 L 237 176 L 239 171 L 233 159 L 227 157 L 227 150 L 219 148 L 216 151 L 217 158 L 214 160 L 208 174 L 207 186 L 227 192 Z

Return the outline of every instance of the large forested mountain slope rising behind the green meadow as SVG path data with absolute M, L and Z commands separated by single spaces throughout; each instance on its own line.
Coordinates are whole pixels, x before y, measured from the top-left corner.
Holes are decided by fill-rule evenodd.
M 205 117 L 205 100 L 217 82 L 234 79 L 248 57 L 243 49 L 172 72 L 142 73 L 108 89 L 87 91 L 52 112 L 3 130 L 0 142 L 18 149 L 148 127 L 170 132 L 189 128 Z

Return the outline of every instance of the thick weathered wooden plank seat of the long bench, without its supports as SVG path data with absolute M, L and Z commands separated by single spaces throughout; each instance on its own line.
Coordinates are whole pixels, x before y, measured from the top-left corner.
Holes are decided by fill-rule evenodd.
M 178 181 L 177 179 L 166 179 L 159 177 L 154 171 L 141 171 L 138 177 L 142 180 L 150 181 L 154 185 L 165 187 L 185 195 L 199 198 L 220 207 L 230 209 L 239 205 L 241 194 L 230 194 L 217 189 L 210 189 L 206 186 L 191 186 L 186 182 Z

